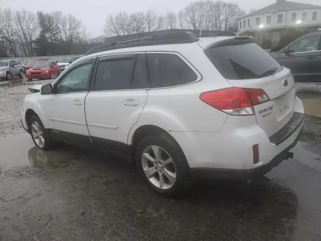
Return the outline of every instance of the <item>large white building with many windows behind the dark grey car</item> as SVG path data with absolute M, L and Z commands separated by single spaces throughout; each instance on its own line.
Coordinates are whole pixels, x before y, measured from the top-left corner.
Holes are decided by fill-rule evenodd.
M 321 6 L 276 0 L 276 3 L 238 21 L 238 34 L 253 36 L 257 44 L 268 39 L 273 46 L 278 46 L 285 31 L 291 28 L 304 33 L 318 31 L 321 28 Z

